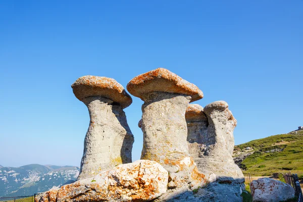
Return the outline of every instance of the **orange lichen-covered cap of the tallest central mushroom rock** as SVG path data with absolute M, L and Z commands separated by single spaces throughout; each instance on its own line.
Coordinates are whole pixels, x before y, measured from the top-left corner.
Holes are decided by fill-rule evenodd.
M 158 68 L 133 78 L 127 90 L 143 101 L 149 92 L 169 92 L 191 96 L 190 102 L 203 98 L 203 92 L 194 84 L 164 68 Z

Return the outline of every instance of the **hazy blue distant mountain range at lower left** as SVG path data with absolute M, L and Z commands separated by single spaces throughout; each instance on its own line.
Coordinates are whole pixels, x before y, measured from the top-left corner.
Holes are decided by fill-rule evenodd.
M 0 197 L 23 196 L 59 187 L 75 180 L 79 167 L 30 164 L 14 167 L 0 165 Z

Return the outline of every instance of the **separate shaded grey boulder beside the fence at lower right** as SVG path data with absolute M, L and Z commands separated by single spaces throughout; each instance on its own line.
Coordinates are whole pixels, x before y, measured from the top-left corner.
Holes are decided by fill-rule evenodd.
M 253 180 L 250 191 L 253 201 L 277 202 L 294 197 L 292 186 L 267 177 Z

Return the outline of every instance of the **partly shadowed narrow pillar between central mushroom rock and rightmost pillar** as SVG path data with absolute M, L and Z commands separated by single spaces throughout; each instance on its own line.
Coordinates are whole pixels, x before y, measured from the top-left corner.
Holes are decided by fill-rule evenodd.
M 189 154 L 192 157 L 199 157 L 201 151 L 206 148 L 206 132 L 208 127 L 207 117 L 203 107 L 197 104 L 190 104 L 185 113 L 187 122 L 187 142 Z

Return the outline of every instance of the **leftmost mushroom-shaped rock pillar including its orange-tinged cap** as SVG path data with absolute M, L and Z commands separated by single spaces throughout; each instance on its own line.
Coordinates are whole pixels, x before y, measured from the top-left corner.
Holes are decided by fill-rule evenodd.
M 90 116 L 77 180 L 131 163 L 134 137 L 123 109 L 132 99 L 123 86 L 112 78 L 83 76 L 72 88 L 75 96 L 87 106 Z

